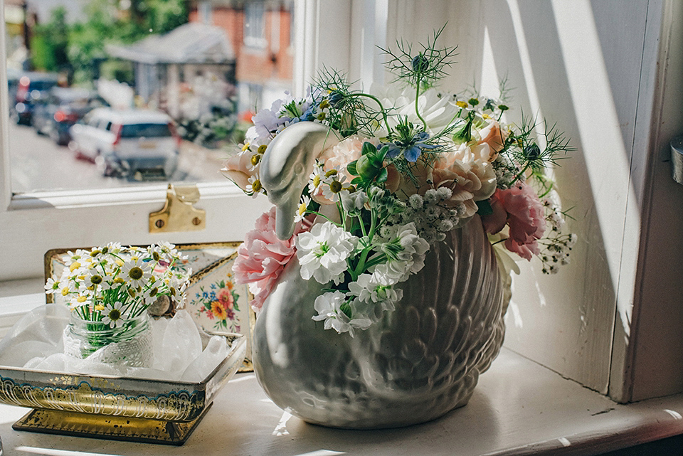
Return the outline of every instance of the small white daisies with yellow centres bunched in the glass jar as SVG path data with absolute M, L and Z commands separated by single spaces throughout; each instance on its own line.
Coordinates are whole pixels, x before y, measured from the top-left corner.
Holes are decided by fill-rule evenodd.
M 50 277 L 45 289 L 80 319 L 114 329 L 139 317 L 157 299 L 168 297 L 182 307 L 191 274 L 184 260 L 170 243 L 70 250 L 63 257 L 63 271 Z

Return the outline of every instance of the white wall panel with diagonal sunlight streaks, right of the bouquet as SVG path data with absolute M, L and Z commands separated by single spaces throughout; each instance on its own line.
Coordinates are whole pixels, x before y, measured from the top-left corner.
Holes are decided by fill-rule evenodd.
M 554 173 L 563 207 L 573 207 L 572 264 L 554 277 L 534 267 L 536 280 L 514 282 L 507 346 L 601 393 L 615 316 L 627 344 L 631 326 L 637 243 L 627 244 L 624 227 L 639 223 L 647 158 L 635 130 L 647 12 L 647 2 L 497 0 L 459 19 L 470 22 L 458 60 L 477 60 L 475 79 L 507 77 L 510 105 L 556 122 L 576 147 Z M 620 278 L 630 299 L 618 299 Z

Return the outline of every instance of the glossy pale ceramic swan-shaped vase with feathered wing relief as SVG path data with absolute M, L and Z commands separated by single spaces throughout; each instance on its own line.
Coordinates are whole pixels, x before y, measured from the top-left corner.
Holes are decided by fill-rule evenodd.
M 287 127 L 265 152 L 264 186 L 288 223 L 290 186 L 303 186 L 298 164 L 319 152 L 301 149 L 322 144 L 321 127 Z M 254 330 L 255 373 L 272 401 L 309 423 L 354 429 L 423 423 L 465 405 L 504 336 L 503 285 L 479 218 L 432 245 L 423 270 L 399 286 L 403 299 L 381 322 L 337 334 L 312 320 L 323 286 L 290 261 Z

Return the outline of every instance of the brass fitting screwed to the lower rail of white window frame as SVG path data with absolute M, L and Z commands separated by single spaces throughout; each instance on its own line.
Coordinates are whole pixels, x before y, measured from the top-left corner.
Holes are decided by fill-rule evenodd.
M 203 230 L 206 228 L 206 211 L 193 206 L 197 201 L 199 189 L 196 185 L 169 184 L 164 207 L 149 214 L 149 233 Z

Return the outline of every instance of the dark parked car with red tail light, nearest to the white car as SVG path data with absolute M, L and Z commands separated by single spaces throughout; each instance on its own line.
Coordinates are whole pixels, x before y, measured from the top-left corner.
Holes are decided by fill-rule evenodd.
M 33 107 L 33 128 L 63 146 L 71 140 L 71 126 L 91 110 L 103 106 L 108 106 L 107 102 L 92 90 L 53 87 Z

